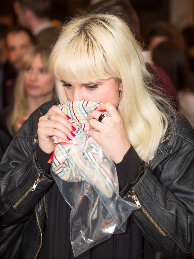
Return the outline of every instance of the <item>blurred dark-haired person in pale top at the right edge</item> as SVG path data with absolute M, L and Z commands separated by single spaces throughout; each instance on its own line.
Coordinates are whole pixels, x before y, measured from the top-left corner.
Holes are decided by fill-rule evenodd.
M 174 40 L 165 40 L 153 49 L 153 61 L 169 75 L 176 87 L 179 111 L 194 127 L 194 76 L 184 50 Z

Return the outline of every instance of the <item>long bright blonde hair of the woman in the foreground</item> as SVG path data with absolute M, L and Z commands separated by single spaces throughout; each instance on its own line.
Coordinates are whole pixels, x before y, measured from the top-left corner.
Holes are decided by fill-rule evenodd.
M 151 159 L 170 124 L 166 109 L 170 113 L 173 109 L 150 87 L 152 76 L 146 70 L 139 43 L 121 18 L 91 14 L 67 21 L 52 49 L 49 69 L 61 103 L 67 98 L 60 80 L 121 80 L 118 112 L 129 141 L 141 159 Z

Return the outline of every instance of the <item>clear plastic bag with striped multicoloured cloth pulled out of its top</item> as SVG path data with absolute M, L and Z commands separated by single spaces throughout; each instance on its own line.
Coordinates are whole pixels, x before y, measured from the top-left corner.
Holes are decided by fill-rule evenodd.
M 75 137 L 54 137 L 51 173 L 71 207 L 70 238 L 75 256 L 125 232 L 126 220 L 138 207 L 119 196 L 115 165 L 99 144 L 89 137 L 87 114 L 99 103 L 68 102 L 59 107 L 76 128 Z

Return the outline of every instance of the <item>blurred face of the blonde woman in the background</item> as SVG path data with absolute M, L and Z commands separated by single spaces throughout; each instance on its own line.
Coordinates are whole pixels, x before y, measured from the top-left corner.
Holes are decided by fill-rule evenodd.
M 31 65 L 25 69 L 24 82 L 28 96 L 40 98 L 51 94 L 53 88 L 52 77 L 43 68 L 39 53 L 35 56 Z

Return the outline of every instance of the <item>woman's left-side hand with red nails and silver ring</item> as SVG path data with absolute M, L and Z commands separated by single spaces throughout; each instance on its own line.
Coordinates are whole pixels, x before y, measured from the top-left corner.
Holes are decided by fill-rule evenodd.
M 50 119 L 48 119 L 48 116 Z M 69 136 L 72 136 L 74 130 L 75 128 L 68 121 L 65 113 L 54 105 L 39 119 L 38 144 L 45 153 L 51 153 L 55 149 L 53 136 L 70 140 Z

